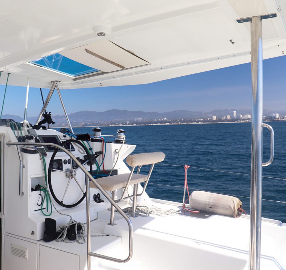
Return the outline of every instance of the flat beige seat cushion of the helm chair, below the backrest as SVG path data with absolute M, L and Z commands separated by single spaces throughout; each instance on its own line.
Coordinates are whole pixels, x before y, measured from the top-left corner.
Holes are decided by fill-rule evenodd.
M 106 176 L 102 178 L 96 179 L 98 184 L 102 186 L 104 190 L 107 191 L 113 191 L 118 188 L 123 188 L 126 186 L 126 183 L 128 181 L 129 173 L 123 173 L 123 174 L 116 174 L 112 176 Z M 147 180 L 147 175 L 144 174 L 132 174 L 131 180 L 129 185 L 138 184 L 141 182 L 145 182 Z M 94 183 L 90 182 L 91 188 L 96 188 Z

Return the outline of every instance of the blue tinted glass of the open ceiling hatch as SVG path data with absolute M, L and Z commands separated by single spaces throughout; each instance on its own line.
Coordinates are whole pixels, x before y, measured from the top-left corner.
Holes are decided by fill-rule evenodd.
M 79 76 L 99 71 L 95 68 L 91 68 L 87 65 L 83 65 L 79 62 L 69 59 L 59 53 L 33 60 L 30 63 L 49 68 L 51 70 L 59 71 L 71 76 Z

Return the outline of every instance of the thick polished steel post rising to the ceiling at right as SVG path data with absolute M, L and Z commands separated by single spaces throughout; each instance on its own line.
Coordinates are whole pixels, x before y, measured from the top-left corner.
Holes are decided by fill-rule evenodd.
M 252 77 L 252 142 L 249 269 L 260 269 L 261 207 L 262 207 L 262 23 L 261 17 L 251 19 L 251 77 Z

